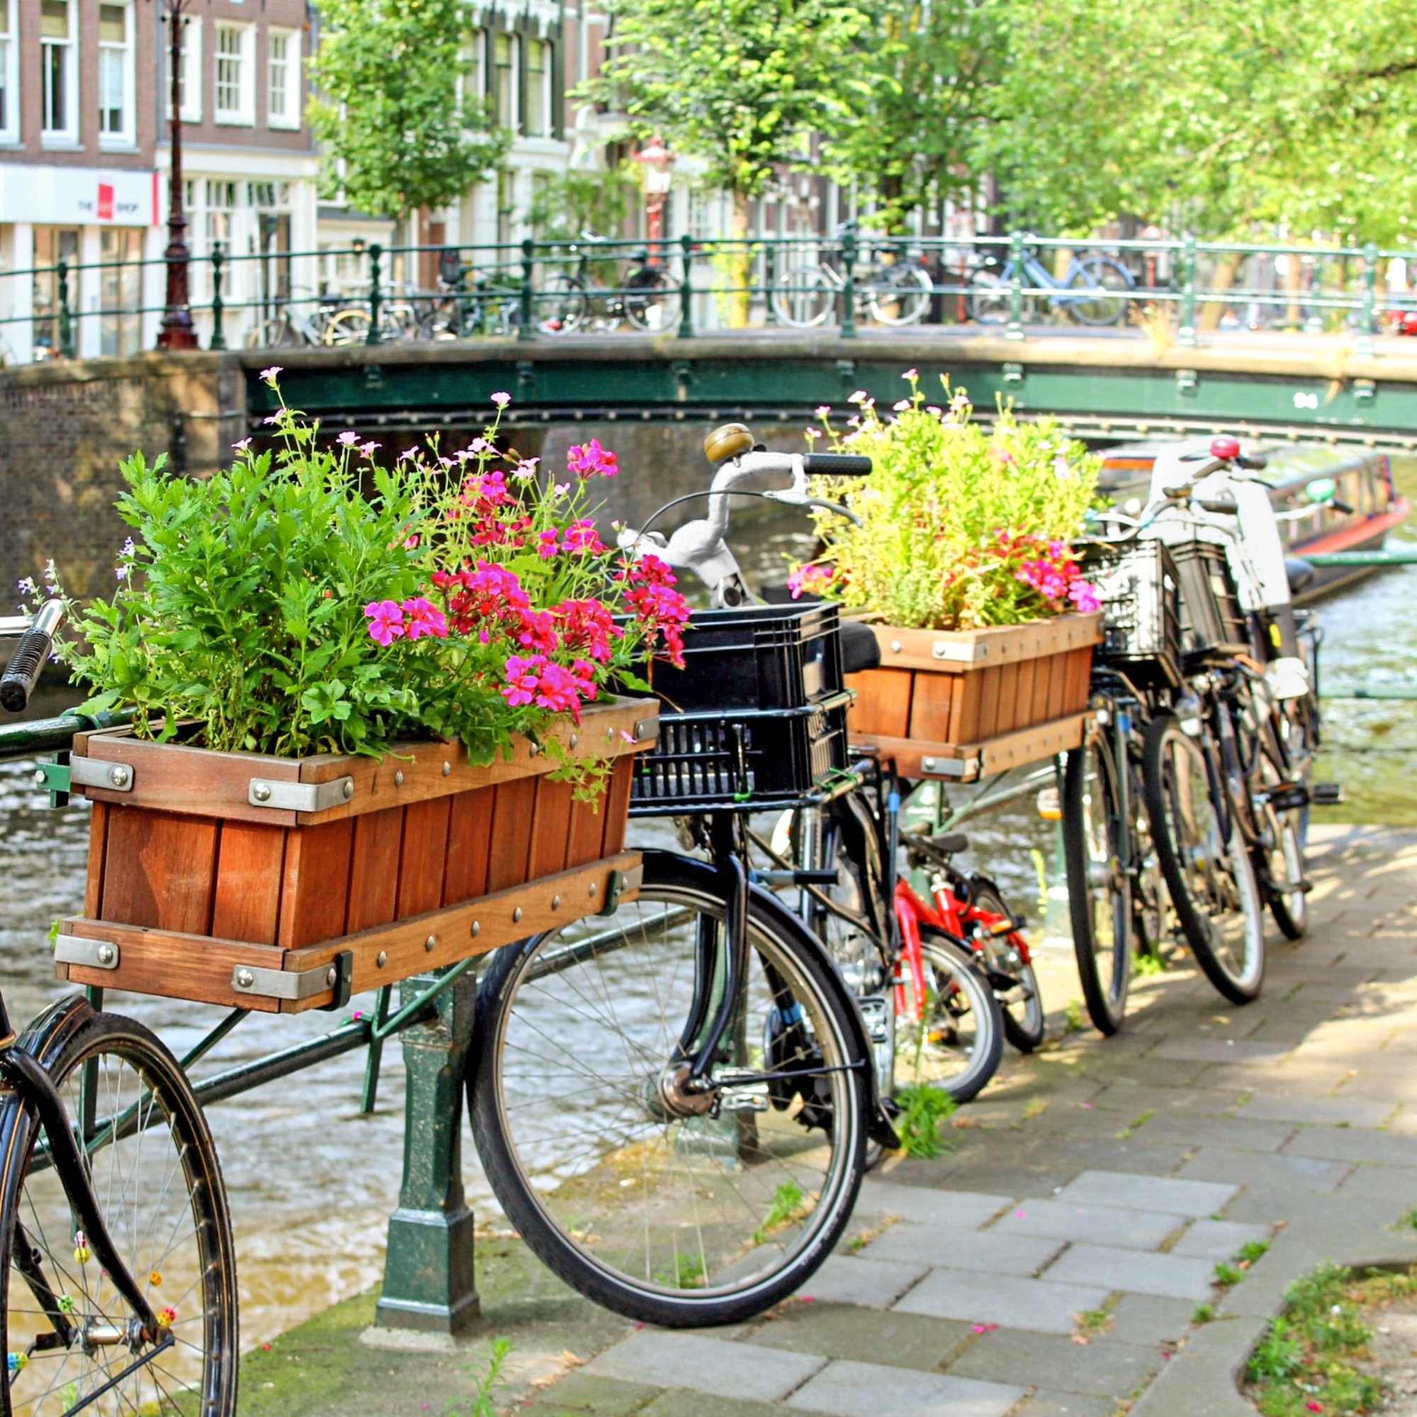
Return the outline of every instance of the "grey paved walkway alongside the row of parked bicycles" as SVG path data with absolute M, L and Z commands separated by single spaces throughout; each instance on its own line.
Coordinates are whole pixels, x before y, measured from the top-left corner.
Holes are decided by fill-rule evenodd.
M 538 1417 L 1226 1417 L 1289 1281 L 1417 1258 L 1417 832 L 1315 829 L 1314 925 L 1264 998 L 1139 979 L 1125 1033 L 1010 1054 L 952 1155 L 893 1161 L 802 1295 L 638 1329 Z M 1077 996 L 1044 959 L 1054 1032 Z M 1217 1261 L 1271 1248 L 1231 1288 Z M 1193 1321 L 1209 1305 L 1214 1319 Z

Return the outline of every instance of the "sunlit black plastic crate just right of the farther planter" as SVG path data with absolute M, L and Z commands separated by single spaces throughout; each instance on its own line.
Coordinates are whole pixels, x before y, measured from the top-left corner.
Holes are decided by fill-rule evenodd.
M 1180 683 L 1180 580 L 1166 547 L 1090 546 L 1083 564 L 1102 602 L 1097 662 L 1146 683 Z

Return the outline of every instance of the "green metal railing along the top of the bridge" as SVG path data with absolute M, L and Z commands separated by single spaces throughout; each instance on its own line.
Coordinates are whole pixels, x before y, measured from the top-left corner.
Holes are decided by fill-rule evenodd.
M 0 361 L 154 343 L 166 259 L 0 271 Z M 1192 238 L 792 235 L 228 251 L 190 258 L 208 349 L 553 339 L 615 329 L 690 339 L 750 327 L 973 324 L 1010 339 L 1117 326 L 1190 347 L 1214 330 L 1346 334 L 1359 353 L 1417 329 L 1417 251 Z M 441 279 L 442 276 L 442 279 Z

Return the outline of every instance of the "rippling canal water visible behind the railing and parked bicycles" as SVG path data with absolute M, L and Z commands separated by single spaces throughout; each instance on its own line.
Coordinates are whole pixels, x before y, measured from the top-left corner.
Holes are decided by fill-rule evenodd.
M 1417 499 L 1417 461 L 1400 469 L 1399 480 L 1404 493 Z M 650 502 L 660 497 L 632 495 L 629 478 L 619 486 L 625 489 L 621 504 L 609 514 L 640 524 Z M 672 514 L 669 526 L 677 520 L 679 514 Z M 734 544 L 755 582 L 781 580 L 785 557 L 801 555 L 809 546 L 802 519 L 764 503 L 734 512 Z M 1407 680 L 1414 660 L 1414 606 L 1417 567 L 1370 577 L 1322 602 L 1325 683 Z M 48 700 L 58 711 L 72 697 L 51 691 Z M 1417 704 L 1333 704 L 1325 724 L 1332 748 L 1325 752 L 1321 777 L 1343 781 L 1349 802 L 1325 809 L 1321 820 L 1413 820 L 1417 806 L 1406 772 L 1417 764 Z M 88 830 L 85 805 L 62 811 L 41 805 L 31 771 L 26 764 L 0 764 L 0 968 L 16 1019 L 30 1017 L 62 992 L 52 979 L 45 934 L 51 921 L 81 910 Z M 1032 803 L 1020 803 L 979 818 L 969 835 L 969 860 L 986 866 L 1016 908 L 1037 918 L 1039 871 L 1051 857 L 1051 828 L 1037 819 Z M 663 828 L 655 823 L 632 825 L 632 842 L 653 845 L 663 837 Z M 220 1017 L 215 1010 L 170 1000 L 120 996 L 115 1002 L 145 1019 L 179 1053 Z M 371 998 L 353 1003 L 370 1006 Z M 319 1036 L 330 1026 L 332 1017 L 317 1012 L 251 1015 L 198 1076 Z M 361 1056 L 350 1054 L 210 1112 L 238 1234 L 242 1340 L 248 1346 L 381 1277 L 402 1151 L 400 1049 L 385 1051 L 373 1117 L 359 1115 L 360 1081 Z M 468 1145 L 466 1152 L 469 1202 L 479 1221 L 496 1227 L 496 1209 L 473 1148 Z

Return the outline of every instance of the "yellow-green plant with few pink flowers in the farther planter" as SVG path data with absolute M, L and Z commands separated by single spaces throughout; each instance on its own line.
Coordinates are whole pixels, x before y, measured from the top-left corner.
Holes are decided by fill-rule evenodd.
M 1097 609 L 1070 541 L 1093 502 L 1100 459 L 1051 419 L 1023 422 L 1002 405 L 985 431 L 964 390 L 941 380 L 942 402 L 930 404 L 915 370 L 901 377 L 910 397 L 888 417 L 857 391 L 845 428 L 823 407 L 825 434 L 808 429 L 809 441 L 825 436 L 873 466 L 863 480 L 819 479 L 822 495 L 845 502 L 860 524 L 813 512 L 823 551 L 792 572 L 794 594 L 939 631 Z

